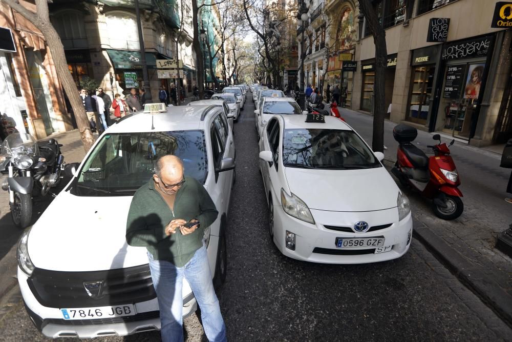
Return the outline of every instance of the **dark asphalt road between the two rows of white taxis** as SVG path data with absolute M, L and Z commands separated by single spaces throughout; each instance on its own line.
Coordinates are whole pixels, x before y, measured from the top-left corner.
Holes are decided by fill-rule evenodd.
M 468 306 L 468 302 L 478 303 L 478 298 L 415 239 L 402 258 L 369 265 L 311 264 L 281 255 L 268 236 L 252 111 L 249 98 L 235 125 L 237 182 L 227 228 L 228 275 L 218 291 L 228 339 L 510 338 L 506 335 L 510 330 L 492 311 Z M 0 320 L 0 340 L 48 340 L 31 324 L 15 290 L 9 311 Z M 184 328 L 186 340 L 205 339 L 196 315 L 185 320 Z M 153 332 L 96 340 L 158 339 Z

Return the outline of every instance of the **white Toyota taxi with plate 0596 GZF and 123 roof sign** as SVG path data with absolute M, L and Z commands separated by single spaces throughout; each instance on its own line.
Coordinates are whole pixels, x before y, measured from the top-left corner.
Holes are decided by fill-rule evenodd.
M 275 115 L 260 151 L 269 234 L 281 253 L 361 264 L 408 251 L 409 200 L 380 163 L 383 153 L 350 126 L 320 114 Z

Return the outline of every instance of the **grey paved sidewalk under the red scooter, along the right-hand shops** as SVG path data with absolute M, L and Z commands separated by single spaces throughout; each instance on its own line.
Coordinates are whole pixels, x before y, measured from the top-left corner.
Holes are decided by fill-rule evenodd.
M 342 107 L 338 110 L 371 145 L 372 116 Z M 385 122 L 385 145 L 388 149 L 384 165 L 388 170 L 396 161 L 398 144 L 392 137 L 395 125 L 389 120 Z M 431 144 L 432 134 L 418 131 L 415 143 L 425 152 L 429 151 L 425 146 Z M 461 177 L 465 187 L 462 192 L 466 196 L 463 197 L 464 213 L 453 221 L 441 220 L 432 212 L 428 200 L 399 185 L 411 200 L 414 236 L 512 327 L 512 260 L 495 248 L 497 232 L 505 230 L 512 222 L 512 207 L 504 202 L 505 193 L 496 190 L 504 191 L 510 173 L 499 168 L 499 148 L 477 148 L 457 143 L 451 149 L 459 174 L 465 173 Z M 474 174 L 481 182 L 474 181 Z M 482 184 L 490 182 L 486 178 L 498 179 L 496 185 L 487 187 L 494 187 L 494 191 L 482 187 Z M 493 198 L 493 202 L 486 198 Z M 486 217 L 489 215 L 487 212 L 499 217 L 492 222 Z

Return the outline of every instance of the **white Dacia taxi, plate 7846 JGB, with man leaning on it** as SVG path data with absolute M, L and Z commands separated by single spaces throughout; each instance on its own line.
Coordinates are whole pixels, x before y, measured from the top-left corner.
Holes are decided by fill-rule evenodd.
M 234 181 L 227 118 L 215 106 L 166 111 L 127 115 L 109 127 L 79 166 L 67 166 L 74 174 L 71 182 L 23 232 L 18 283 L 30 318 L 45 336 L 92 338 L 160 329 L 146 249 L 127 245 L 125 234 L 132 196 L 151 179 L 161 155 L 179 156 L 185 175 L 204 184 L 214 200 L 219 216 L 203 240 L 214 281 L 225 279 Z M 183 315 L 196 307 L 184 279 Z

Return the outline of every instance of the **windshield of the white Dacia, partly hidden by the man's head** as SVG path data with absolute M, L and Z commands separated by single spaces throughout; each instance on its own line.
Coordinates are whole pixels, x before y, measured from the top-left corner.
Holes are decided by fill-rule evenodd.
M 73 183 L 77 196 L 131 196 L 154 173 L 159 157 L 183 160 L 185 176 L 204 184 L 207 157 L 200 130 L 106 134 L 89 155 Z

